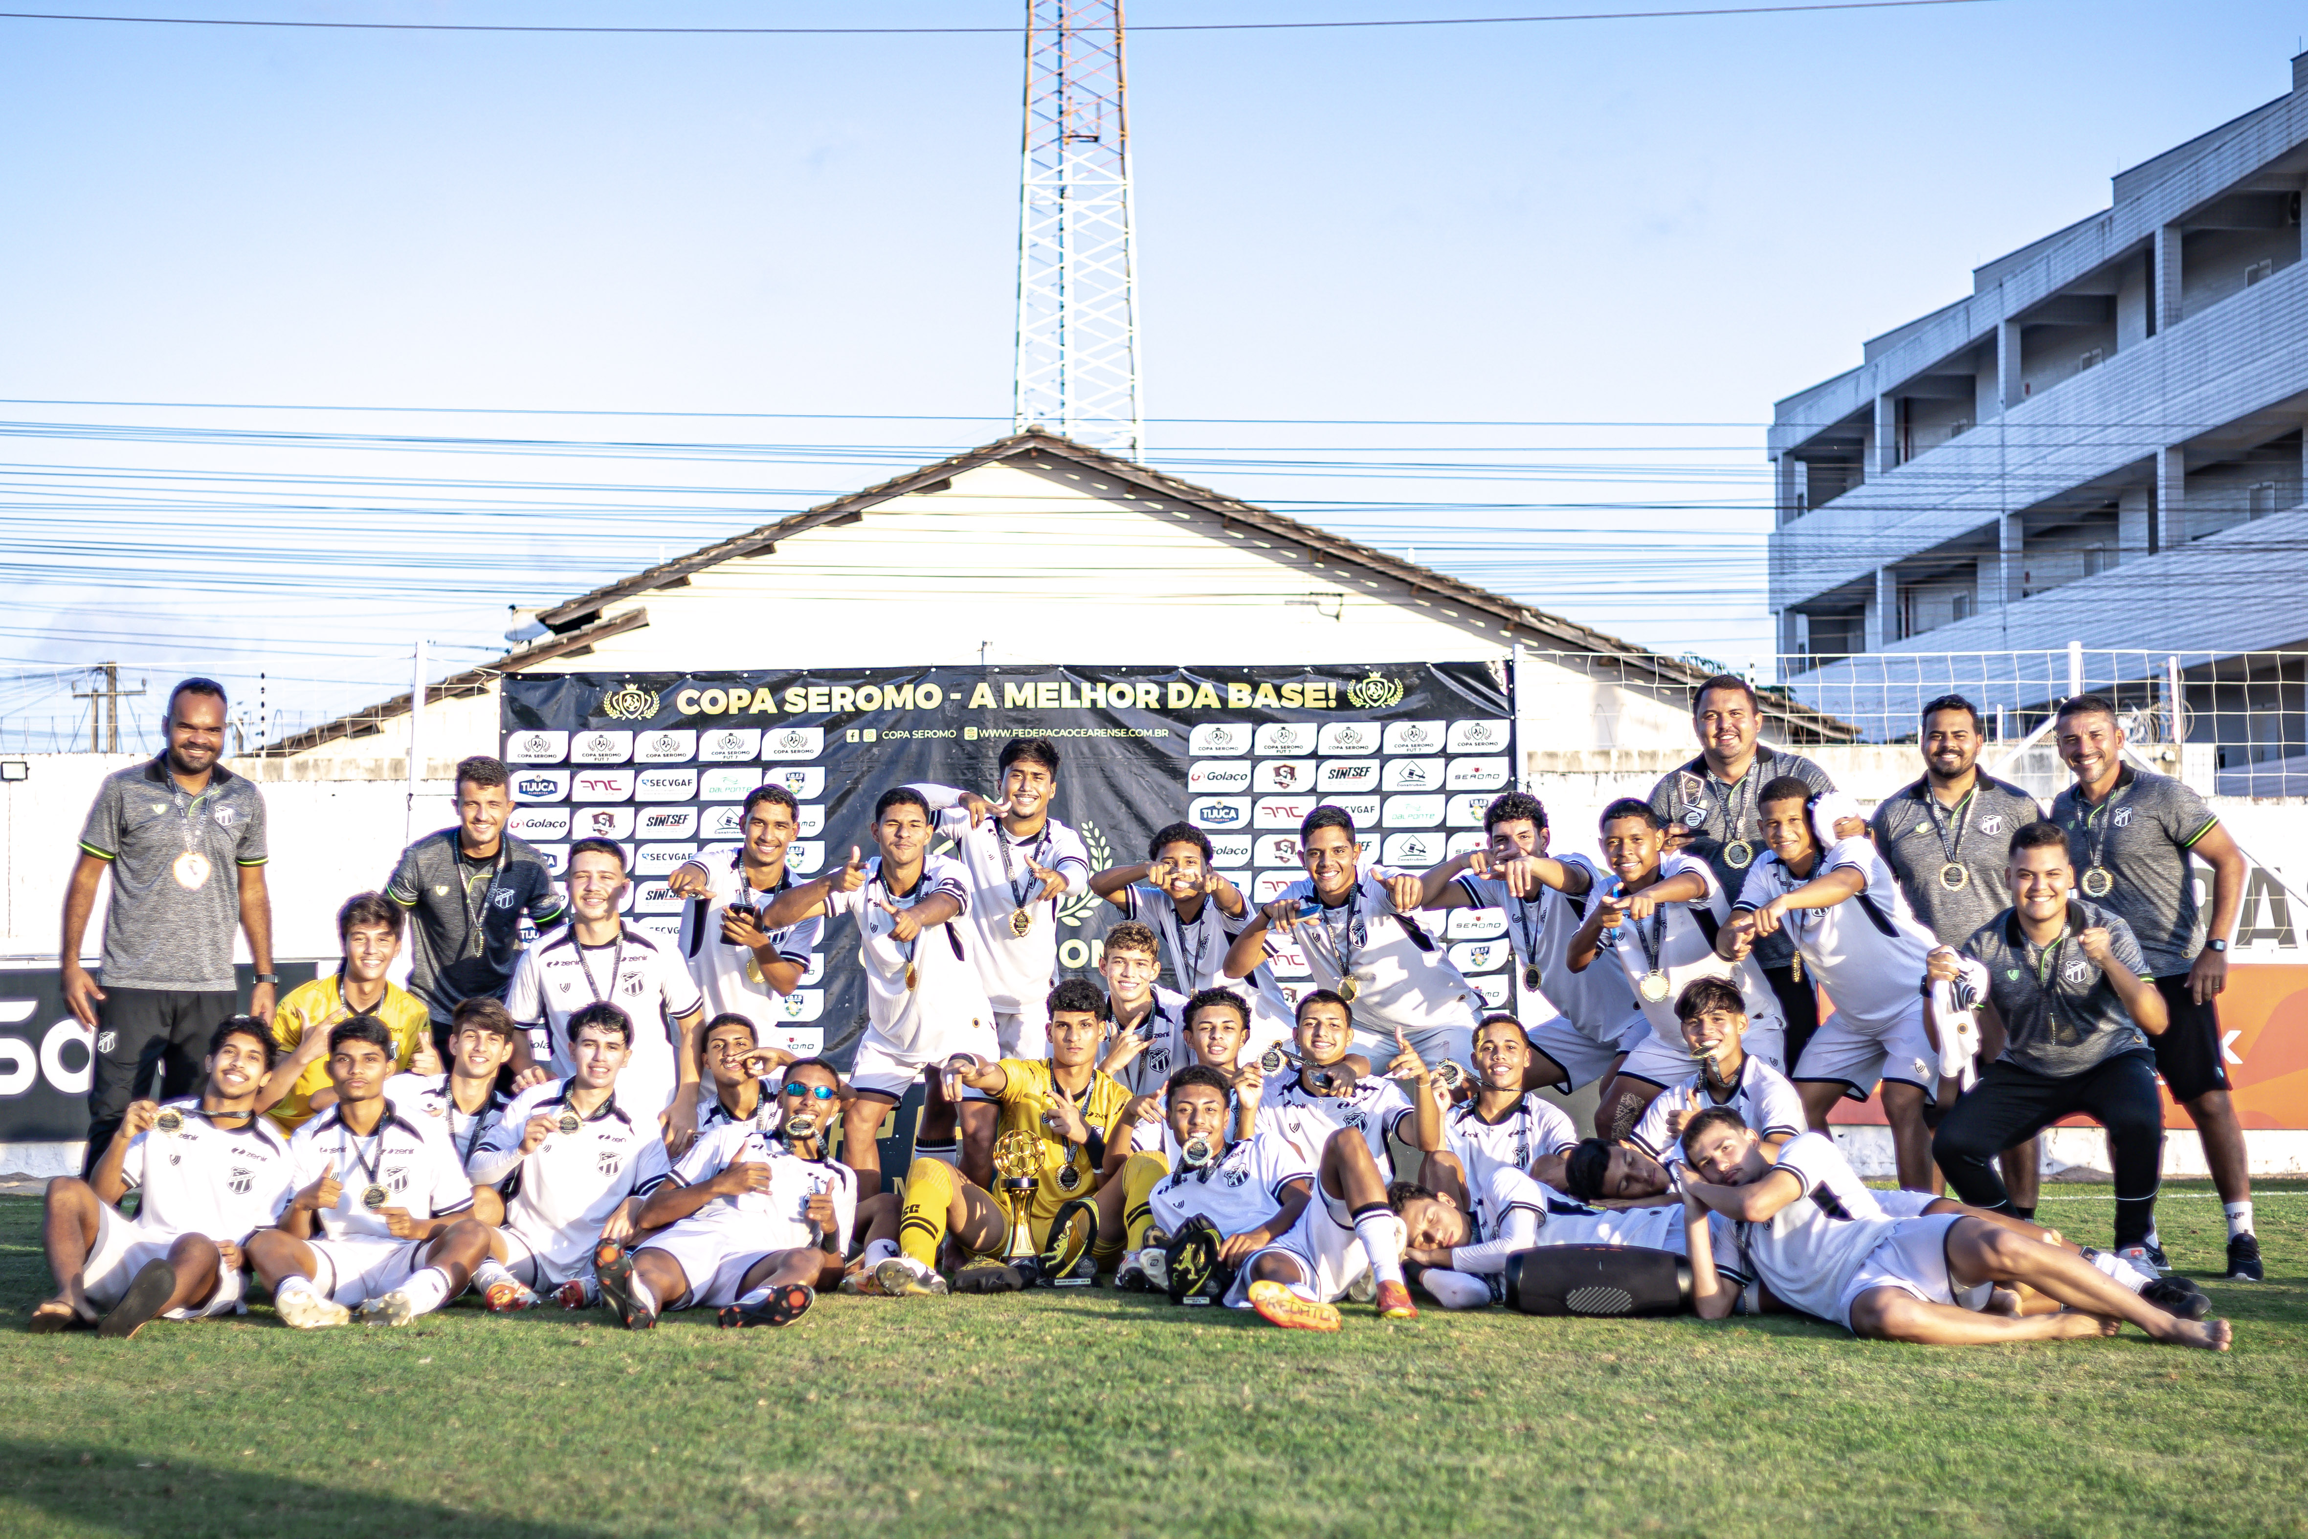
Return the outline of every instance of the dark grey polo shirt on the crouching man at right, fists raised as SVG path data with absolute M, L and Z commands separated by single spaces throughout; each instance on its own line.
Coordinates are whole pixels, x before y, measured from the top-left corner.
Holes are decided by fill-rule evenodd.
M 2050 946 L 2026 939 L 2017 909 L 2003 909 L 1964 941 L 1964 955 L 1987 969 L 1987 997 L 2010 1034 L 1999 1061 L 2040 1075 L 2077 1075 L 2119 1052 L 2149 1052 L 2149 1036 L 2123 1008 L 2116 985 L 2075 939 L 2093 925 L 2107 928 L 2119 962 L 2149 976 L 2123 916 L 2080 898 L 2068 900 L 2068 923 Z

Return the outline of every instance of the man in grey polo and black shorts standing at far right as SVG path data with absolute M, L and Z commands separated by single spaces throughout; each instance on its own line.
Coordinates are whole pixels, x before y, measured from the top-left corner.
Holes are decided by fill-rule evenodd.
M 2220 990 L 2227 988 L 2227 932 L 2243 900 L 2243 851 L 2188 784 L 2123 761 L 2123 727 L 2105 695 L 2077 695 L 2052 725 L 2059 757 L 2075 784 L 2052 798 L 2052 821 L 2068 831 L 2075 886 L 2123 916 L 2140 939 L 2172 1027 L 2156 1038 L 2156 1073 L 2188 1108 L 2211 1184 L 2227 1209 L 2227 1281 L 2257 1283 L 2260 1239 L 2253 1234 L 2253 1174 L 2243 1126 L 2227 1098 L 2220 1045 Z M 2211 865 L 2211 925 L 2195 900 L 2190 858 Z M 2149 1234 L 2149 1253 L 2163 1251 Z

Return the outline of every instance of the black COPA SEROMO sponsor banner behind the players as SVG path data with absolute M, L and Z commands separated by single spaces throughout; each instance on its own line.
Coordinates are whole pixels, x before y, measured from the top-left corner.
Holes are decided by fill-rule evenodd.
M 1172 821 L 1202 828 L 1253 902 L 1302 872 L 1297 826 L 1318 803 L 1355 814 L 1369 861 L 1424 868 L 1482 835 L 1482 808 L 1514 782 L 1505 669 L 1482 662 L 1295 669 L 815 669 L 764 674 L 512 674 L 503 752 L 512 831 L 559 863 L 575 838 L 628 847 L 630 921 L 674 937 L 667 877 L 727 863 L 745 794 L 773 780 L 801 803 L 787 868 L 815 877 L 856 844 L 875 798 L 907 782 L 997 794 L 1018 736 L 1062 757 L 1052 812 L 1092 868 L 1142 861 Z M 1059 904 L 1059 969 L 1096 964 L 1119 918 L 1087 891 Z M 1452 928 L 1454 960 L 1505 997 L 1496 916 Z M 847 921 L 766 1034 L 847 1061 L 863 1029 Z M 1279 960 L 1290 985 L 1295 958 Z M 1477 976 L 1496 974 L 1496 976 Z

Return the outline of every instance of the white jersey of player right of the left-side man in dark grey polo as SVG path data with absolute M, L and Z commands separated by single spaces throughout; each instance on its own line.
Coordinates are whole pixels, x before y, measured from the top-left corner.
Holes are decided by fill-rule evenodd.
M 672 944 L 619 925 L 612 944 L 579 946 L 577 930 L 563 928 L 522 953 L 505 994 L 505 1008 L 529 1027 L 531 1050 L 549 1061 L 556 1080 L 577 1068 L 568 1043 L 570 1015 L 602 1001 L 632 1018 L 632 1057 L 616 1075 L 619 1098 L 628 1110 L 655 1117 L 681 1082 L 669 1022 L 704 1008 L 704 994 Z M 538 1043 L 540 1027 L 547 1043 Z

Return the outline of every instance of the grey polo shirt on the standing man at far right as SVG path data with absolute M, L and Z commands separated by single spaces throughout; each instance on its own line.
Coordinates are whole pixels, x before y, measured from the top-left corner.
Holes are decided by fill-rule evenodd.
M 2204 916 L 2195 902 L 2195 872 L 2188 849 L 2211 833 L 2220 814 L 2204 798 L 2170 775 L 2116 771 L 2116 784 L 2100 805 L 2089 805 L 2070 784 L 2052 798 L 2052 821 L 2068 831 L 2068 861 L 2075 886 L 2093 865 L 2107 868 L 2114 886 L 2093 898 L 2116 914 L 2140 937 L 2140 955 L 2149 976 L 2183 974 L 2204 948 Z

